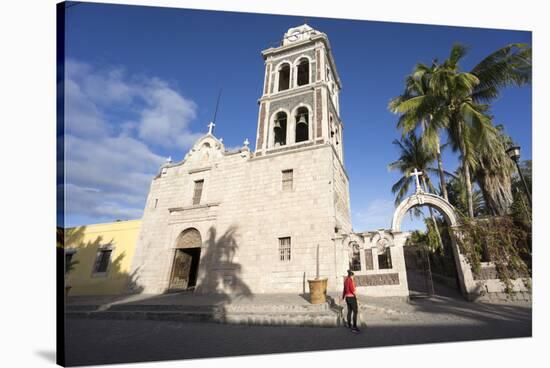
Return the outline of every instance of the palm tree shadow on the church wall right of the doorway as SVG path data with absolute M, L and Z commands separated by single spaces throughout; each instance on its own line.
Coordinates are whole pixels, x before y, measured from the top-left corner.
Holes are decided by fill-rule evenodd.
M 242 267 L 234 262 L 238 245 L 235 239 L 237 227 L 232 225 L 223 235 L 217 235 L 210 227 L 206 240 L 206 252 L 201 257 L 197 293 L 218 294 L 229 300 L 232 297 L 250 297 L 252 292 L 241 279 Z

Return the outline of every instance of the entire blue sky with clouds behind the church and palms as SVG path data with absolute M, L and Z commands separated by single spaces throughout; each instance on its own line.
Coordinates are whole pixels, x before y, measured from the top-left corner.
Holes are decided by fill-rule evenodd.
M 149 183 L 166 157 L 179 161 L 207 131 L 223 94 L 215 134 L 226 147 L 254 142 L 264 63 L 303 17 L 81 3 L 66 12 L 65 226 L 138 218 Z M 397 117 L 387 110 L 417 62 L 443 60 L 469 46 L 469 69 L 531 33 L 403 23 L 308 18 L 330 39 L 343 83 L 345 165 L 355 230 L 388 227 L 398 152 Z M 495 122 L 531 158 L 531 87 L 503 91 Z M 457 155 L 445 151 L 455 170 Z M 405 222 L 403 228 L 417 226 Z

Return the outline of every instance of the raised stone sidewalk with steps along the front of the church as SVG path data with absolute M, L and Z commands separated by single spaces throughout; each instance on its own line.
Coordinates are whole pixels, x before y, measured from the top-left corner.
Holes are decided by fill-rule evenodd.
M 181 292 L 124 297 L 77 296 L 68 298 L 65 315 L 69 318 L 177 320 L 250 325 L 336 327 L 342 324 L 341 308 L 338 305 L 314 305 L 299 294 L 228 296 Z

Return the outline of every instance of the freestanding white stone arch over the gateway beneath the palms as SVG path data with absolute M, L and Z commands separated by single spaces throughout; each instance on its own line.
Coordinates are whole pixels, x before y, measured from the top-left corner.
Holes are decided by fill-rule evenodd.
M 449 202 L 435 194 L 417 191 L 415 194 L 403 200 L 395 209 L 391 226 L 392 232 L 401 231 L 401 223 L 409 210 L 422 206 L 436 209 L 443 216 L 451 230 L 456 229 L 458 226 L 458 218 L 455 209 Z M 471 267 L 464 255 L 460 252 L 454 231 L 450 231 L 450 241 L 460 291 L 462 295 L 470 299 L 475 289 Z

